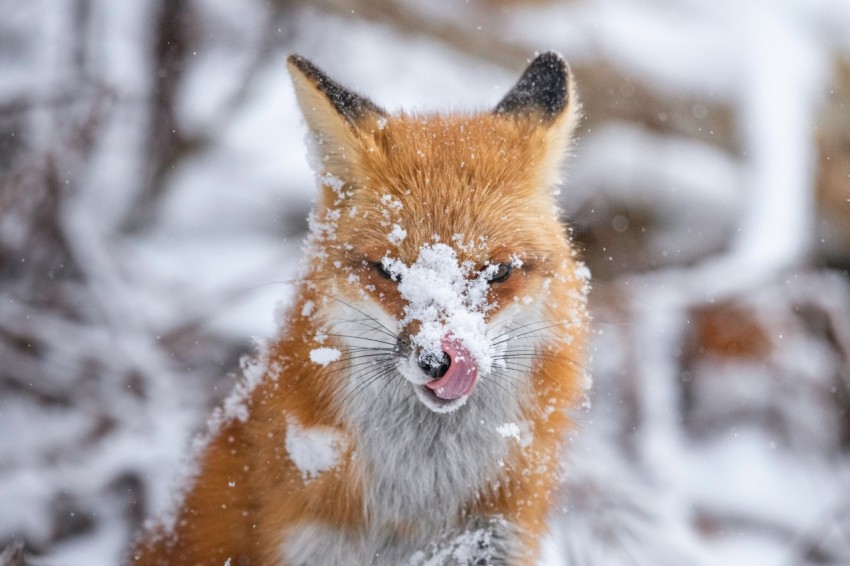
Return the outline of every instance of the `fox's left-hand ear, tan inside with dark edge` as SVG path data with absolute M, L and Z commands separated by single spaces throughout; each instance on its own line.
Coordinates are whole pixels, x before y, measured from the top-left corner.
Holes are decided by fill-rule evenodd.
M 359 134 L 367 123 L 375 123 L 370 118 L 381 118 L 387 113 L 368 98 L 328 77 L 304 57 L 292 54 L 286 61 L 301 113 L 324 159 L 322 168 L 350 178 L 361 151 Z

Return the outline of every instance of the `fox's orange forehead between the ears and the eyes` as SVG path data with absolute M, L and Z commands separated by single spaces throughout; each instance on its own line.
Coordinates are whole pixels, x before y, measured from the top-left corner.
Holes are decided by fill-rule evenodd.
M 538 172 L 545 139 L 529 124 L 402 114 L 364 130 L 360 166 L 342 180 L 349 196 L 337 201 L 339 235 L 377 259 L 393 251 L 413 261 L 436 240 L 476 262 L 545 255 L 561 235 L 551 182 Z

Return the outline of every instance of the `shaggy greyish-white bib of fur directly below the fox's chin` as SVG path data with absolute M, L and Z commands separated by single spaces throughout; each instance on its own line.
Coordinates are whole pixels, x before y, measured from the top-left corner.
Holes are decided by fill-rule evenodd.
M 426 407 L 396 370 L 374 380 L 351 372 L 348 379 L 348 389 L 359 389 L 342 404 L 343 419 L 356 439 L 370 520 L 447 527 L 504 481 L 517 440 L 500 430 L 526 421 L 528 375 L 484 376 L 451 413 Z

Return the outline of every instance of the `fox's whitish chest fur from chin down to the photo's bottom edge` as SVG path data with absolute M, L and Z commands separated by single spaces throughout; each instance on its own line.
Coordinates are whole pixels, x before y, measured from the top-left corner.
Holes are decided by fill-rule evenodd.
M 358 330 L 355 343 L 345 346 L 386 340 L 378 331 Z M 349 331 L 335 329 L 337 334 L 351 335 Z M 300 525 L 285 533 L 285 563 L 506 563 L 514 527 L 501 517 L 474 517 L 464 510 L 502 480 L 511 450 L 527 443 L 518 431 L 526 429 L 522 413 L 529 376 L 504 368 L 484 375 L 465 405 L 435 413 L 392 371 L 394 363 L 388 359 L 376 362 L 374 371 L 351 371 L 340 390 L 362 481 L 363 528 L 345 533 L 326 525 Z

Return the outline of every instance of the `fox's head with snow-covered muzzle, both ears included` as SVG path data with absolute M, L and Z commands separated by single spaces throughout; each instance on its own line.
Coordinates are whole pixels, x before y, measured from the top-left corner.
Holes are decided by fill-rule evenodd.
M 400 374 L 450 412 L 572 339 L 586 284 L 555 199 L 578 116 L 560 56 L 534 59 L 493 110 L 452 115 L 390 115 L 298 55 L 288 65 L 322 186 L 307 279 L 330 306 L 316 315 L 364 364 L 390 360 L 355 375 Z

